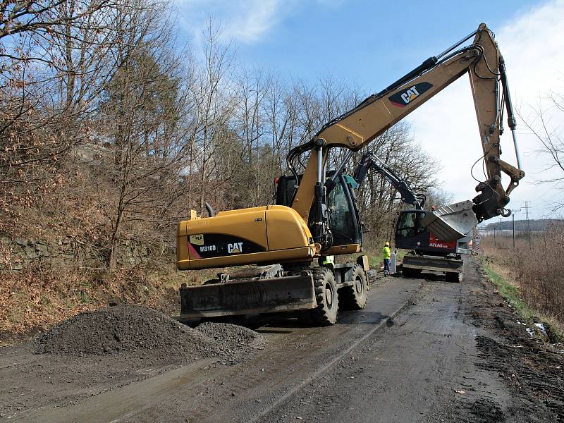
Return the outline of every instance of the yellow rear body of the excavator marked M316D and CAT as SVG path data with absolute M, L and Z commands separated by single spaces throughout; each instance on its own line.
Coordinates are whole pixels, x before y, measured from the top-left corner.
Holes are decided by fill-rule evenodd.
M 290 207 L 252 207 L 193 217 L 178 224 L 180 270 L 311 262 L 319 255 L 305 221 Z

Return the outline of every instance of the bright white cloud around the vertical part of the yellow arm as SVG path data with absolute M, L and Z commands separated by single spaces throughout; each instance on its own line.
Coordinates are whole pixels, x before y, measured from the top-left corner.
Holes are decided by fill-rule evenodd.
M 527 115 L 539 104 L 539 98 L 551 91 L 564 92 L 564 1 L 551 1 L 544 6 L 517 16 L 502 27 L 492 28 L 505 58 L 513 104 Z M 462 35 L 462 34 L 461 34 Z M 437 51 L 441 46 L 437 46 Z M 561 115 L 560 115 L 561 116 Z M 504 117 L 505 119 L 505 117 Z M 482 156 L 470 83 L 463 76 L 434 99 L 410 115 L 415 137 L 433 157 L 441 161 L 443 189 L 452 192 L 455 200 L 474 197 L 476 182 L 470 167 Z M 515 164 L 513 140 L 506 122 L 501 140 L 502 158 Z M 526 173 L 515 188 L 509 208 L 519 209 L 522 201 L 532 202 L 532 216 L 549 216 L 550 204 L 563 200 L 563 192 L 552 185 L 535 181 L 546 179 L 548 158 L 539 157 L 538 140 L 530 135 L 524 123 L 518 122 L 522 168 Z M 429 166 L 432 169 L 432 166 Z M 474 168 L 474 176 L 484 179 L 482 164 Z M 504 185 L 508 183 L 505 178 Z M 517 214 L 522 219 L 524 214 Z

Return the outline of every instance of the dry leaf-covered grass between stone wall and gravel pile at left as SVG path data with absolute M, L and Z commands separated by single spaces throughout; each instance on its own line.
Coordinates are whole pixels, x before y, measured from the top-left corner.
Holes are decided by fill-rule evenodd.
M 116 271 L 36 266 L 0 272 L 0 345 L 109 302 L 145 304 L 178 314 L 183 282 L 198 283 L 197 275 L 177 272 L 172 264 Z

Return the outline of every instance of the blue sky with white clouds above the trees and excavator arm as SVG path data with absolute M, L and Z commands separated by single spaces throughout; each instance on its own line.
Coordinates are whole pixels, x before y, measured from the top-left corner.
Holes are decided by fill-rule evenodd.
M 238 61 L 292 78 L 332 75 L 377 92 L 429 56 L 439 54 L 485 22 L 508 65 L 515 106 L 527 120 L 546 106 L 546 94 L 564 92 L 564 0 L 361 1 L 361 0 L 177 0 L 180 34 L 197 44 L 207 16 L 233 39 Z M 549 118 L 552 116 L 549 114 Z M 472 96 L 461 78 L 411 114 L 418 142 L 443 169 L 441 188 L 453 200 L 475 195 L 470 166 L 482 155 Z M 554 115 L 558 127 L 562 115 Z M 522 168 L 527 176 L 510 207 L 532 202 L 532 216 L 554 217 L 551 204 L 563 187 L 542 184 L 554 175 L 539 156 L 539 142 L 519 127 Z M 503 159 L 515 164 L 510 131 Z M 461 170 L 462 169 L 462 170 Z M 520 214 L 517 214 L 517 219 Z

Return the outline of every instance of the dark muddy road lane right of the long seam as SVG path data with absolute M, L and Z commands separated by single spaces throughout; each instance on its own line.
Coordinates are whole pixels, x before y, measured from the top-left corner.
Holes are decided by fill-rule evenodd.
M 474 374 L 475 333 L 462 321 L 465 286 L 442 278 L 429 282 L 388 330 L 343 357 L 333 374 L 305 386 L 262 422 L 435 422 L 429 410 L 459 395 L 455 390 L 462 390 L 469 376 L 482 385 L 467 396 L 503 391 L 495 376 Z

